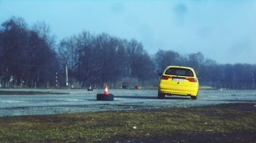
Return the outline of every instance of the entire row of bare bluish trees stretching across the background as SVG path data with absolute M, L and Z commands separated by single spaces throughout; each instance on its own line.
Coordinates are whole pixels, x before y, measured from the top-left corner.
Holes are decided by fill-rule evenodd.
M 57 43 L 45 23 L 28 26 L 20 17 L 0 27 L 0 63 L 1 87 L 157 87 L 158 73 L 167 65 L 195 68 L 200 84 L 210 87 L 254 88 L 256 79 L 256 65 L 218 64 L 200 52 L 158 50 L 149 55 L 136 39 L 108 33 L 81 32 Z

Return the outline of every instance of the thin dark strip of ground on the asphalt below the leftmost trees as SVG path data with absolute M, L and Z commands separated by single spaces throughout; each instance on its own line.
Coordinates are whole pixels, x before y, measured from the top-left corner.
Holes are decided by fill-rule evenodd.
M 0 95 L 45 95 L 45 94 L 69 94 L 69 93 L 0 90 Z

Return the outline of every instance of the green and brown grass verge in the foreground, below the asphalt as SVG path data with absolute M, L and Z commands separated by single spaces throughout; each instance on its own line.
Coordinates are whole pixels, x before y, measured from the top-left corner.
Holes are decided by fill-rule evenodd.
M 254 142 L 254 104 L 1 117 L 0 142 Z

